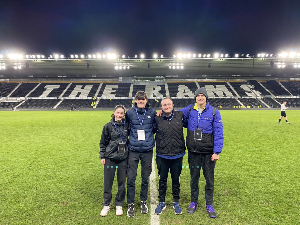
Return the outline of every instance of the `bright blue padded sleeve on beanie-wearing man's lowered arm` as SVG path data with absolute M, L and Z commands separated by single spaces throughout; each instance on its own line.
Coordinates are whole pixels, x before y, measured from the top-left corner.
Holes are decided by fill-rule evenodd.
M 216 110 L 212 130 L 214 132 L 214 153 L 219 154 L 222 152 L 224 143 L 223 122 L 219 110 Z

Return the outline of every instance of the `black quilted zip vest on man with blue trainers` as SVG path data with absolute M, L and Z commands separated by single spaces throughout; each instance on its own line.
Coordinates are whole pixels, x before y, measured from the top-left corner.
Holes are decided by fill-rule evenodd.
M 170 122 L 163 115 L 155 120 L 155 127 L 157 128 L 155 136 L 156 153 L 159 155 L 173 156 L 185 152 L 183 115 L 177 111 L 174 111 L 173 115 Z

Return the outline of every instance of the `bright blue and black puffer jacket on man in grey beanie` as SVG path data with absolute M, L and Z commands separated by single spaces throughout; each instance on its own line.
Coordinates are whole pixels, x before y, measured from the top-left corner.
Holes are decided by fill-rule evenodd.
M 192 107 L 190 111 L 190 107 Z M 188 118 L 186 145 L 190 152 L 202 154 L 221 153 L 223 149 L 223 123 L 219 110 L 216 110 L 213 120 L 213 107 L 207 102 L 200 115 L 199 129 L 202 129 L 202 140 L 194 139 L 194 130 L 198 123 L 198 106 L 189 105 L 181 109 L 185 119 Z M 188 115 L 190 111 L 190 116 Z

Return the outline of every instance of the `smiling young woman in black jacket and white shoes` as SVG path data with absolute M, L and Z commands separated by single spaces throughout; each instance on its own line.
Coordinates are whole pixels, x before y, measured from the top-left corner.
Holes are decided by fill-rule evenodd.
M 113 180 L 117 170 L 118 193 L 116 194 L 116 215 L 123 214 L 125 200 L 125 182 L 128 161 L 128 123 L 125 119 L 125 108 L 116 106 L 109 123 L 103 126 L 100 140 L 101 164 L 104 165 L 103 209 L 101 216 L 110 211 Z

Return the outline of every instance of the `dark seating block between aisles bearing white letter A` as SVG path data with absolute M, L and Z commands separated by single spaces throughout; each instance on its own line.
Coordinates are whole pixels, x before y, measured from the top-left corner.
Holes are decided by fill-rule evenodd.
M 168 82 L 167 84 L 171 98 L 194 98 L 194 93 L 198 88 L 195 82 Z

